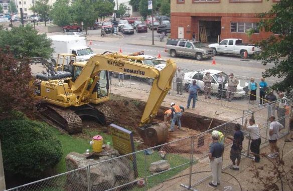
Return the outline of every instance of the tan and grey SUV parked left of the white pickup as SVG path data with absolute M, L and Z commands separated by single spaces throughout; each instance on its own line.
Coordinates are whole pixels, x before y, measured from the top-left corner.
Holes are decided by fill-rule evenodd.
M 169 39 L 165 46 L 165 52 L 170 53 L 171 57 L 186 56 L 197 60 L 211 58 L 215 56 L 214 49 L 204 46 L 199 41 Z

